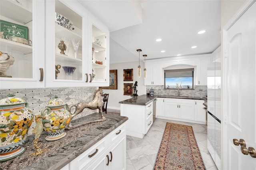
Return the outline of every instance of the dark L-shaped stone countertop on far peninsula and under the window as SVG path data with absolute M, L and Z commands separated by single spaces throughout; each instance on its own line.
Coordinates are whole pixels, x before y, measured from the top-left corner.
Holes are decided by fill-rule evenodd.
M 169 96 L 169 95 L 154 95 L 154 98 L 147 97 L 147 95 L 141 95 L 137 97 L 132 97 L 124 101 L 120 101 L 120 104 L 129 105 L 147 105 L 156 98 L 174 98 L 174 99 L 196 99 L 196 100 L 207 100 L 206 97 L 196 97 L 196 96 Z

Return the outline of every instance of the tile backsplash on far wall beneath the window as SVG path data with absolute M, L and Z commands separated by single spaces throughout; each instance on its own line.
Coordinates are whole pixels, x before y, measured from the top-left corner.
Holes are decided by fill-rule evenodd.
M 147 89 L 154 90 L 154 95 L 168 95 L 168 96 L 177 96 L 178 89 L 164 89 L 164 85 L 147 85 Z M 195 85 L 194 89 L 180 89 L 180 96 L 189 96 L 189 97 L 206 97 L 207 96 L 207 85 Z

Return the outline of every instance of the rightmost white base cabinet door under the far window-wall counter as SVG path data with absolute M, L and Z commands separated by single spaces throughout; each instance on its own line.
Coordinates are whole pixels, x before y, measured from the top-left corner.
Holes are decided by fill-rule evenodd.
M 203 124 L 206 123 L 206 115 L 205 115 L 205 110 L 203 100 L 194 100 L 194 113 L 195 113 L 195 121 L 200 121 Z

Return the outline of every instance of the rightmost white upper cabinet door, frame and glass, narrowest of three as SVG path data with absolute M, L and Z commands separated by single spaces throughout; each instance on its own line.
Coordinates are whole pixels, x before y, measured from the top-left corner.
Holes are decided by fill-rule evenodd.
M 109 86 L 109 30 L 90 16 L 88 35 L 88 85 Z

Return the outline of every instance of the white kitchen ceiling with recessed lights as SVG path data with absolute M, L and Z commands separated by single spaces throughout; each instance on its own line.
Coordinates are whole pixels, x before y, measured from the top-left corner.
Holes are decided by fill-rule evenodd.
M 138 61 L 136 49 L 148 60 L 212 53 L 220 46 L 220 0 L 79 2 L 109 28 L 110 63 Z

